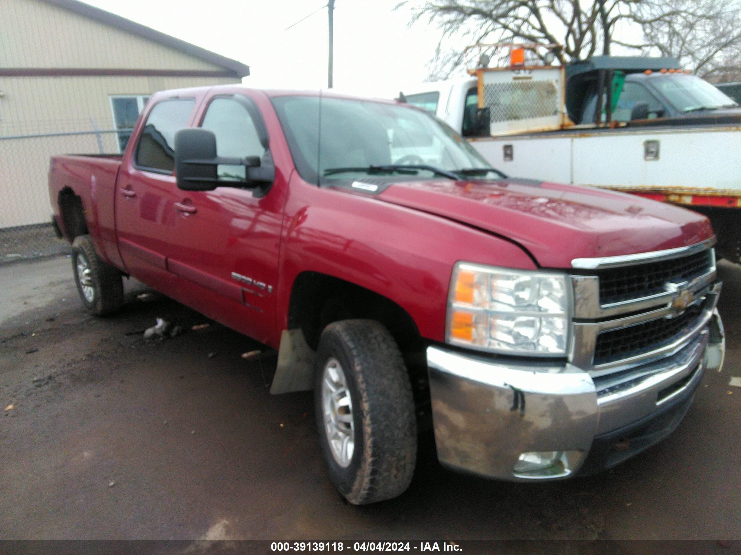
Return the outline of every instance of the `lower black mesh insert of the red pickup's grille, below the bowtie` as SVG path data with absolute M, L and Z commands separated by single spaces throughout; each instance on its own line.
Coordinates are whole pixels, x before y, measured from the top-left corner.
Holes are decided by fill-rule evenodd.
M 694 305 L 674 318 L 662 317 L 602 332 L 594 346 L 594 365 L 635 357 L 674 343 L 701 314 L 700 306 Z

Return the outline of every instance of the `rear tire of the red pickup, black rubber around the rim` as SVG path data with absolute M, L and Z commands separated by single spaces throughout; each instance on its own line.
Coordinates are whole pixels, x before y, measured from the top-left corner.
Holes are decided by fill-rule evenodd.
M 90 283 L 93 299 L 87 300 L 83 293 L 77 258 L 82 256 L 90 268 Z M 90 240 L 90 235 L 78 235 L 72 243 L 72 272 L 77 292 L 87 312 L 94 316 L 105 316 L 118 311 L 124 304 L 124 283 L 121 272 L 99 257 Z

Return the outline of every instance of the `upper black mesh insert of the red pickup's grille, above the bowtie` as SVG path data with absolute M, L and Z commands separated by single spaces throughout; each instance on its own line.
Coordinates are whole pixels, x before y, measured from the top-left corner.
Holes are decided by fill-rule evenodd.
M 665 291 L 665 283 L 682 283 L 703 275 L 713 264 L 711 251 L 640 266 L 606 269 L 599 275 L 599 303 L 619 303 Z

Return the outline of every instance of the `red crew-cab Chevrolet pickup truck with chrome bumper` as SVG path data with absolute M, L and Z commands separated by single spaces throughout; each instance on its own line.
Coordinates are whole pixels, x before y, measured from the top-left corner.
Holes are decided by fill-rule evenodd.
M 49 186 L 87 310 L 133 276 L 277 349 L 352 503 L 405 491 L 425 411 L 442 464 L 554 480 L 666 437 L 722 364 L 706 218 L 507 178 L 407 104 L 159 92 Z

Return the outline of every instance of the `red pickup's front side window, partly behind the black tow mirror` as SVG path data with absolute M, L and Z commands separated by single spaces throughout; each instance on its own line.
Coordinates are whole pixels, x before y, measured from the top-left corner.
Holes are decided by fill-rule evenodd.
M 219 156 L 262 158 L 265 154 L 250 112 L 233 98 L 214 98 L 208 105 L 201 127 L 216 135 L 216 154 Z M 246 177 L 245 166 L 222 164 L 216 171 L 219 179 L 242 181 Z

